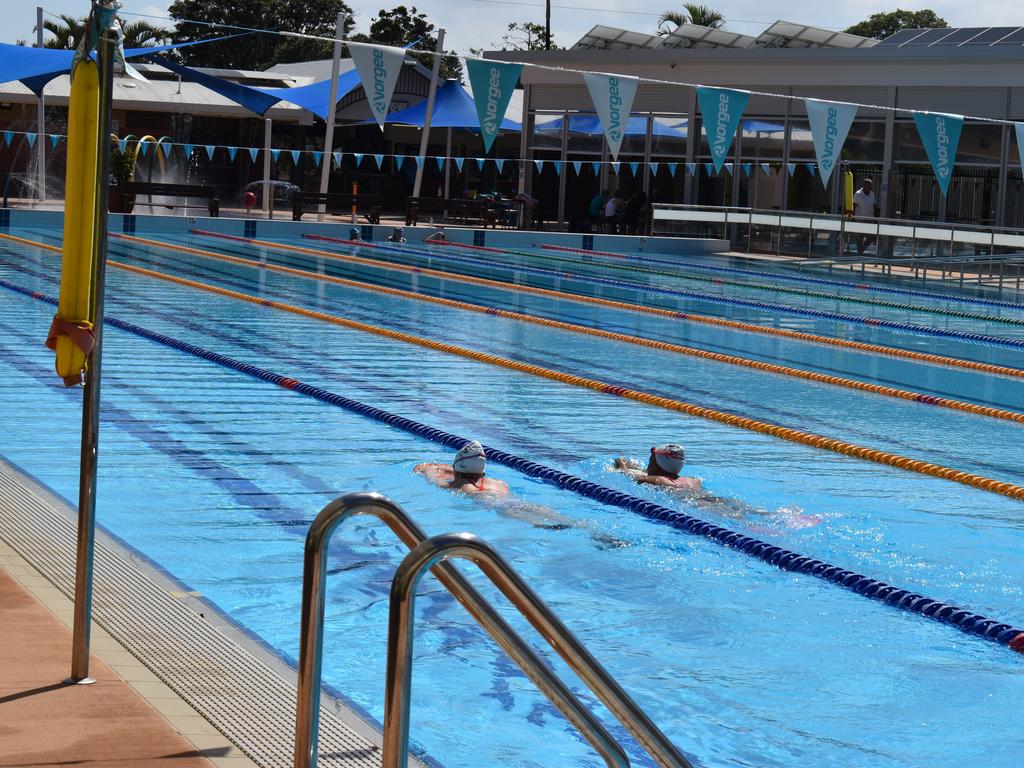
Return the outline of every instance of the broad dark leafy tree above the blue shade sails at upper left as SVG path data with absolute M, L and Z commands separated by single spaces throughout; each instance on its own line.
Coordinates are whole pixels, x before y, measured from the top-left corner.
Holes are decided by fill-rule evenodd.
M 175 0 L 167 10 L 175 22 L 172 39 L 176 43 L 237 32 L 191 20 L 333 38 L 335 17 L 342 12 L 347 14 L 345 34 L 355 27 L 352 9 L 344 0 Z M 265 70 L 288 61 L 330 58 L 333 47 L 327 40 L 257 33 L 179 51 L 182 62 L 189 67 Z

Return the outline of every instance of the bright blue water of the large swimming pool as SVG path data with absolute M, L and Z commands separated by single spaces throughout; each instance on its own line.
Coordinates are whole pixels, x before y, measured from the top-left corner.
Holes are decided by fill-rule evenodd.
M 243 224 L 238 222 L 232 232 L 244 234 Z M 12 233 L 55 242 L 52 229 L 27 226 Z M 511 249 L 516 253 L 422 245 L 385 249 L 310 241 L 279 230 L 260 237 L 306 250 L 168 227 L 156 236 L 162 245 L 112 241 L 111 258 L 1024 484 L 1018 433 L 1024 425 L 1013 421 L 315 275 L 1011 411 L 1024 410 L 1021 380 L 1013 376 L 811 344 L 515 286 L 482 285 L 460 275 L 1024 368 L 1024 348 L 1013 344 L 1024 339 L 1024 327 L 1005 322 L 1024 318 L 1019 309 L 812 287 L 771 276 L 785 270 L 770 266 L 757 267 L 769 276 L 740 279 L 835 296 L 866 295 L 918 308 L 709 284 L 666 274 L 697 272 L 662 263 L 631 262 L 656 268 L 657 274 L 625 273 L 610 268 L 616 261 L 612 258 L 525 247 Z M 182 246 L 191 250 L 180 250 Z M 332 254 L 361 261 L 339 261 Z M 700 259 L 706 265 L 736 266 L 723 258 Z M 0 242 L 0 279 L 30 291 L 55 294 L 57 262 L 44 251 Z M 394 268 L 402 265 L 409 268 Z M 655 442 L 684 442 L 689 472 L 716 494 L 752 507 L 741 514 L 720 514 L 674 503 L 684 511 L 1021 624 L 1019 501 L 148 274 L 112 268 L 109 289 L 113 317 L 662 504 L 664 495 L 633 485 L 610 472 L 608 464 L 617 455 L 641 457 Z M 79 395 L 59 386 L 50 355 L 40 344 L 52 307 L 11 291 L 0 295 L 5 410 L 33 415 L 5 420 L 12 423 L 0 437 L 0 454 L 73 498 L 77 466 L 60 457 L 68 455 L 69 445 L 77 446 Z M 827 314 L 793 311 L 801 309 Z M 963 309 L 992 319 L 929 309 Z M 836 315 L 956 335 L 914 333 Z M 1008 343 L 983 344 L 966 334 Z M 560 530 L 536 527 L 515 514 L 453 497 L 412 474 L 420 461 L 450 460 L 446 449 L 133 334 L 112 330 L 104 342 L 100 522 L 286 656 L 297 652 L 306 525 L 334 496 L 376 489 L 406 506 L 428 532 L 467 529 L 495 544 L 696 764 L 1009 766 L 1019 756 L 1024 727 L 1006 717 L 1005 702 L 1019 688 L 1014 673 L 1020 657 L 1000 645 L 495 467 L 494 475 L 508 481 L 518 497 L 580 523 Z M 53 435 L 67 435 L 59 452 Z M 386 530 L 361 520 L 339 531 L 331 554 L 325 677 L 376 718 L 382 714 L 387 589 L 402 554 Z M 473 581 L 485 594 L 495 594 Z M 449 768 L 598 765 L 438 585 L 428 580 L 425 588 L 417 624 L 412 722 L 419 748 Z M 513 626 L 524 627 L 510 611 L 503 613 Z M 563 670 L 557 660 L 555 667 Z M 936 737 L 949 733 L 956 737 Z

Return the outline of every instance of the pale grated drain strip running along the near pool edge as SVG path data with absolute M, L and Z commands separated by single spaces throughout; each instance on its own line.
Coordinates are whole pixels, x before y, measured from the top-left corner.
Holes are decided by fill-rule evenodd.
M 75 592 L 75 512 L 0 459 L 0 538 L 69 599 Z M 171 595 L 167 580 L 97 530 L 93 618 L 242 752 L 264 768 L 292 765 L 295 684 Z M 205 603 L 204 612 L 210 610 Z M 334 700 L 321 708 L 319 765 L 379 768 L 380 737 Z M 410 765 L 421 764 L 411 761 Z

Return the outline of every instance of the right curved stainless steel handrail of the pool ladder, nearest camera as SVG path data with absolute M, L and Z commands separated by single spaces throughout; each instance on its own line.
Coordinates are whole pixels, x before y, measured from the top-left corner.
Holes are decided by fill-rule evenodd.
M 431 537 L 406 556 L 391 582 L 382 768 L 404 768 L 409 760 L 416 587 L 428 568 L 435 567 L 450 557 L 463 557 L 476 563 L 658 765 L 664 768 L 690 768 L 689 762 L 676 745 L 662 733 L 519 574 L 486 542 L 472 534 L 441 534 Z

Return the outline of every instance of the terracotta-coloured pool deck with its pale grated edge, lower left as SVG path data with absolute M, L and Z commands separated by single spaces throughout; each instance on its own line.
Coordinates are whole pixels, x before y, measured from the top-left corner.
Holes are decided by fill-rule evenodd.
M 71 505 L 0 459 L 0 768 L 290 768 L 294 668 L 98 527 L 98 682 L 62 684 L 75 530 Z M 325 694 L 319 720 L 321 768 L 379 768 L 380 732 L 358 713 Z

